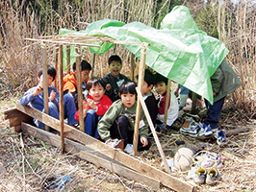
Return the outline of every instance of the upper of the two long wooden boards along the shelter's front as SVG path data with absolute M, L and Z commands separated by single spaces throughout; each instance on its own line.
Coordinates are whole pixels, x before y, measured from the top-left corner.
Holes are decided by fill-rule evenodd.
M 60 121 L 58 119 L 41 113 L 36 108 L 21 106 L 20 104 L 17 104 L 16 108 L 60 132 Z M 160 180 L 162 184 L 166 185 L 167 187 L 173 190 L 187 192 L 192 191 L 194 189 L 194 186 L 192 186 L 191 183 L 188 183 L 184 180 L 179 180 L 151 165 L 148 165 L 140 161 L 137 158 L 134 158 L 133 156 L 129 156 L 118 149 L 113 149 L 112 147 L 106 145 L 105 143 L 86 134 L 85 132 L 76 130 L 75 128 L 68 126 L 66 124 L 64 124 L 64 132 L 66 136 L 74 138 L 80 143 L 90 147 L 92 150 L 97 151 L 98 153 L 103 154 L 105 156 L 108 156 L 134 169 L 135 171 L 138 171 L 139 173 L 145 176 L 154 178 L 155 180 Z

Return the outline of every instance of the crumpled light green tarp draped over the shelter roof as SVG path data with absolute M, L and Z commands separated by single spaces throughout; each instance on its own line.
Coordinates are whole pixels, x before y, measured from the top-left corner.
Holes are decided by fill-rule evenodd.
M 141 22 L 125 24 L 104 19 L 91 23 L 85 31 L 60 30 L 60 35 L 71 33 L 149 43 L 145 60 L 147 66 L 202 95 L 211 103 L 213 90 L 210 77 L 229 52 L 217 38 L 207 36 L 205 32 L 198 30 L 190 10 L 184 6 L 177 6 L 166 14 L 160 30 Z M 90 47 L 90 51 L 96 54 L 103 54 L 113 46 L 111 43 L 94 44 L 101 45 Z M 140 59 L 140 46 L 123 46 Z

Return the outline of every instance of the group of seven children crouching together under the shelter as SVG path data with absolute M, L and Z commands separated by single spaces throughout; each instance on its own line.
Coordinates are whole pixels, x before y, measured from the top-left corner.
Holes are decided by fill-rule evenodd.
M 136 117 L 137 84 L 126 76 L 120 74 L 122 62 L 118 56 L 111 56 L 108 60 L 110 73 L 103 78 L 92 78 L 90 80 L 90 63 L 82 60 L 81 77 L 83 84 L 83 117 L 85 132 L 90 136 L 104 140 L 123 139 L 124 146 L 133 143 L 134 122 Z M 77 110 L 77 74 L 76 63 L 73 64 L 73 73 L 64 76 L 64 118 L 67 124 L 76 126 L 79 122 L 79 111 Z M 59 92 L 51 87 L 56 77 L 56 70 L 47 66 L 49 115 L 59 119 Z M 38 72 L 38 85 L 29 89 L 20 99 L 20 104 L 30 105 L 40 111 L 44 111 L 43 105 L 43 80 L 42 69 Z M 151 91 L 155 87 L 160 96 L 156 100 Z M 161 74 L 153 74 L 146 69 L 141 94 L 148 108 L 154 125 L 164 125 L 166 108 L 167 79 Z M 221 103 L 222 105 L 222 103 Z M 170 128 L 178 118 L 179 104 L 173 91 L 170 91 L 168 101 L 166 127 Z M 218 119 L 217 119 L 218 120 Z M 44 125 L 37 119 L 35 124 L 40 129 Z M 138 150 L 147 150 L 150 147 L 148 140 L 148 125 L 143 111 L 141 110 L 141 121 L 139 130 Z

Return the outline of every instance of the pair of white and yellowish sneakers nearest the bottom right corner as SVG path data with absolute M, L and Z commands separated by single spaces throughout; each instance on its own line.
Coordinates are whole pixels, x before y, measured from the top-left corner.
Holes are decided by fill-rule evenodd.
M 221 177 L 219 171 L 216 168 L 206 171 L 205 168 L 199 168 L 195 171 L 193 181 L 198 184 L 214 184 Z

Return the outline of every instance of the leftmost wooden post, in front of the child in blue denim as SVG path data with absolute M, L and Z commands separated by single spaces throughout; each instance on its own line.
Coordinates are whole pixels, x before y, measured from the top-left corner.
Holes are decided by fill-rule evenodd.
M 47 73 L 47 62 L 46 62 L 46 47 L 42 48 L 42 78 L 43 78 L 43 106 L 44 106 L 44 113 L 49 114 L 49 107 L 48 107 L 48 73 Z M 44 125 L 44 128 L 47 132 L 50 131 L 50 128 Z

